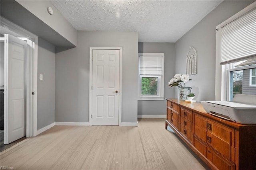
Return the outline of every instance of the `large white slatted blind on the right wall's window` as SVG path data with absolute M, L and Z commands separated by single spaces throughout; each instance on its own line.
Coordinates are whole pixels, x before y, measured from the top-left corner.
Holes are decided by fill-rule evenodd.
M 256 8 L 221 28 L 220 64 L 256 56 Z

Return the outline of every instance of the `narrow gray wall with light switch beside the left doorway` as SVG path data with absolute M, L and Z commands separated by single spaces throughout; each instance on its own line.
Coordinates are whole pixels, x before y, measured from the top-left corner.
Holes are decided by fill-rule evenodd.
M 43 80 L 39 80 L 43 74 Z M 37 129 L 55 121 L 55 46 L 38 38 Z

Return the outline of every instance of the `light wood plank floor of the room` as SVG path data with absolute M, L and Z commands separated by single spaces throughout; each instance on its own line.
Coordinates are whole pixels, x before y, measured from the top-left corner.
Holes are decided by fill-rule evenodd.
M 164 128 L 165 119 L 138 121 L 138 127 L 54 126 L 1 152 L 0 166 L 15 170 L 208 168 Z

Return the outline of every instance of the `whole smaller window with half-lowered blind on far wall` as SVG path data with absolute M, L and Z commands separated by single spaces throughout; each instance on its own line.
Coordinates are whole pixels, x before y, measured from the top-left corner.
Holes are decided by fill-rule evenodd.
M 164 100 L 164 53 L 139 53 L 138 100 Z

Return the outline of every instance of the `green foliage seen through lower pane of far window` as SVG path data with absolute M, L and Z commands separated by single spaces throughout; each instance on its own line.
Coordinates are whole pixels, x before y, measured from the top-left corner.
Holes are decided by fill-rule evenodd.
M 158 77 L 141 78 L 142 95 L 158 95 Z

